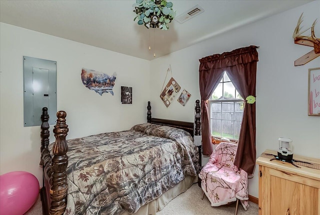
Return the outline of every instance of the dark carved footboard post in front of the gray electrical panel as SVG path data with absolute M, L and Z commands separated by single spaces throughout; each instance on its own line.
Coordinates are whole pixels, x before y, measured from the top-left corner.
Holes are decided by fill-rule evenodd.
M 43 159 L 42 159 L 42 150 L 44 148 L 48 148 L 49 144 L 49 136 L 50 136 L 50 131 L 49 131 L 49 115 L 48 115 L 48 108 L 47 107 L 42 107 L 42 115 L 41 115 L 41 131 L 40 131 L 40 137 L 41 137 L 41 158 L 40 158 L 40 165 L 43 165 Z

